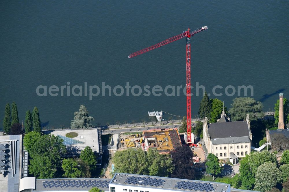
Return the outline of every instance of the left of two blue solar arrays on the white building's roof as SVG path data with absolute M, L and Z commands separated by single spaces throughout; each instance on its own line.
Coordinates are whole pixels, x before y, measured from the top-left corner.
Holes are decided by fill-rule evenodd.
M 138 185 L 149 185 L 149 186 L 161 186 L 163 185 L 163 182 L 165 182 L 165 180 L 163 179 L 156 179 L 156 178 L 150 178 L 150 177 L 135 177 L 135 176 L 131 176 L 128 177 L 127 180 L 125 180 L 126 183 L 128 184 L 138 184 Z

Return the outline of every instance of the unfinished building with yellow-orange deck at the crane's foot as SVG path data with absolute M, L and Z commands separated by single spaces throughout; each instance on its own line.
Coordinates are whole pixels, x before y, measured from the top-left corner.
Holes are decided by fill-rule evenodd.
M 156 148 L 160 153 L 169 153 L 174 148 L 181 146 L 181 139 L 177 129 L 157 129 L 144 131 L 142 149 Z

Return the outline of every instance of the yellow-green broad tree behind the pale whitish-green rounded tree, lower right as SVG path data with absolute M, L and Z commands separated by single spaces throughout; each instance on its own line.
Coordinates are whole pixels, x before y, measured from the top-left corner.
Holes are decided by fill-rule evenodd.
M 252 173 L 255 175 L 257 168 L 264 163 L 273 163 L 277 165 L 276 155 L 269 151 L 253 152 L 248 155 L 248 162 L 251 167 Z

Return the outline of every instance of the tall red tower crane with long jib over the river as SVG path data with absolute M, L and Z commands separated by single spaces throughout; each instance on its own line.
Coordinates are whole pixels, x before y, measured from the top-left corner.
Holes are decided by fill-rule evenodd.
M 187 76 L 187 83 L 186 83 L 186 89 L 187 89 L 187 133 L 188 133 L 188 143 L 191 143 L 191 44 L 190 44 L 190 38 L 191 36 L 194 36 L 194 34 L 199 33 L 201 31 L 204 31 L 208 29 L 207 26 L 200 27 L 199 29 L 196 29 L 194 31 L 190 31 L 190 28 L 188 30 L 184 31 L 180 35 L 176 35 L 174 37 L 171 37 L 169 39 L 166 39 L 158 44 L 155 44 L 153 46 L 150 46 L 148 48 L 144 48 L 142 50 L 139 50 L 137 52 L 134 52 L 128 56 L 128 58 L 135 57 L 137 55 L 143 54 L 145 52 L 148 52 L 150 50 L 153 50 L 155 48 L 164 46 L 166 44 L 169 44 L 171 42 L 174 42 L 176 40 L 179 40 L 183 37 L 187 37 L 186 42 L 186 76 Z

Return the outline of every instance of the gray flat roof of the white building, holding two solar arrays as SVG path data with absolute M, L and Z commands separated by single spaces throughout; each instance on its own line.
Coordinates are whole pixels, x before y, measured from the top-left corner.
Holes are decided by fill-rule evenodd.
M 146 180 L 150 182 L 146 183 Z M 131 183 L 131 181 L 134 181 Z M 186 184 L 186 186 L 182 184 Z M 112 178 L 110 184 L 117 185 L 132 185 L 132 186 L 143 186 L 153 189 L 173 189 L 177 191 L 205 191 L 205 187 L 211 187 L 208 191 L 214 192 L 223 192 L 229 187 L 230 184 L 217 183 L 217 182 L 208 182 L 208 181 L 199 181 L 199 180 L 187 180 L 187 179 L 178 179 L 178 178 L 167 178 L 167 177 L 156 177 L 156 176 L 144 176 L 144 175 L 135 175 L 135 174 L 115 174 Z M 181 186 L 180 186 L 181 185 Z M 182 187 L 183 186 L 183 187 Z M 187 188 L 194 186 L 192 188 Z M 201 186 L 201 189 L 195 188 L 195 186 Z M 208 189 L 208 188 L 207 188 Z

